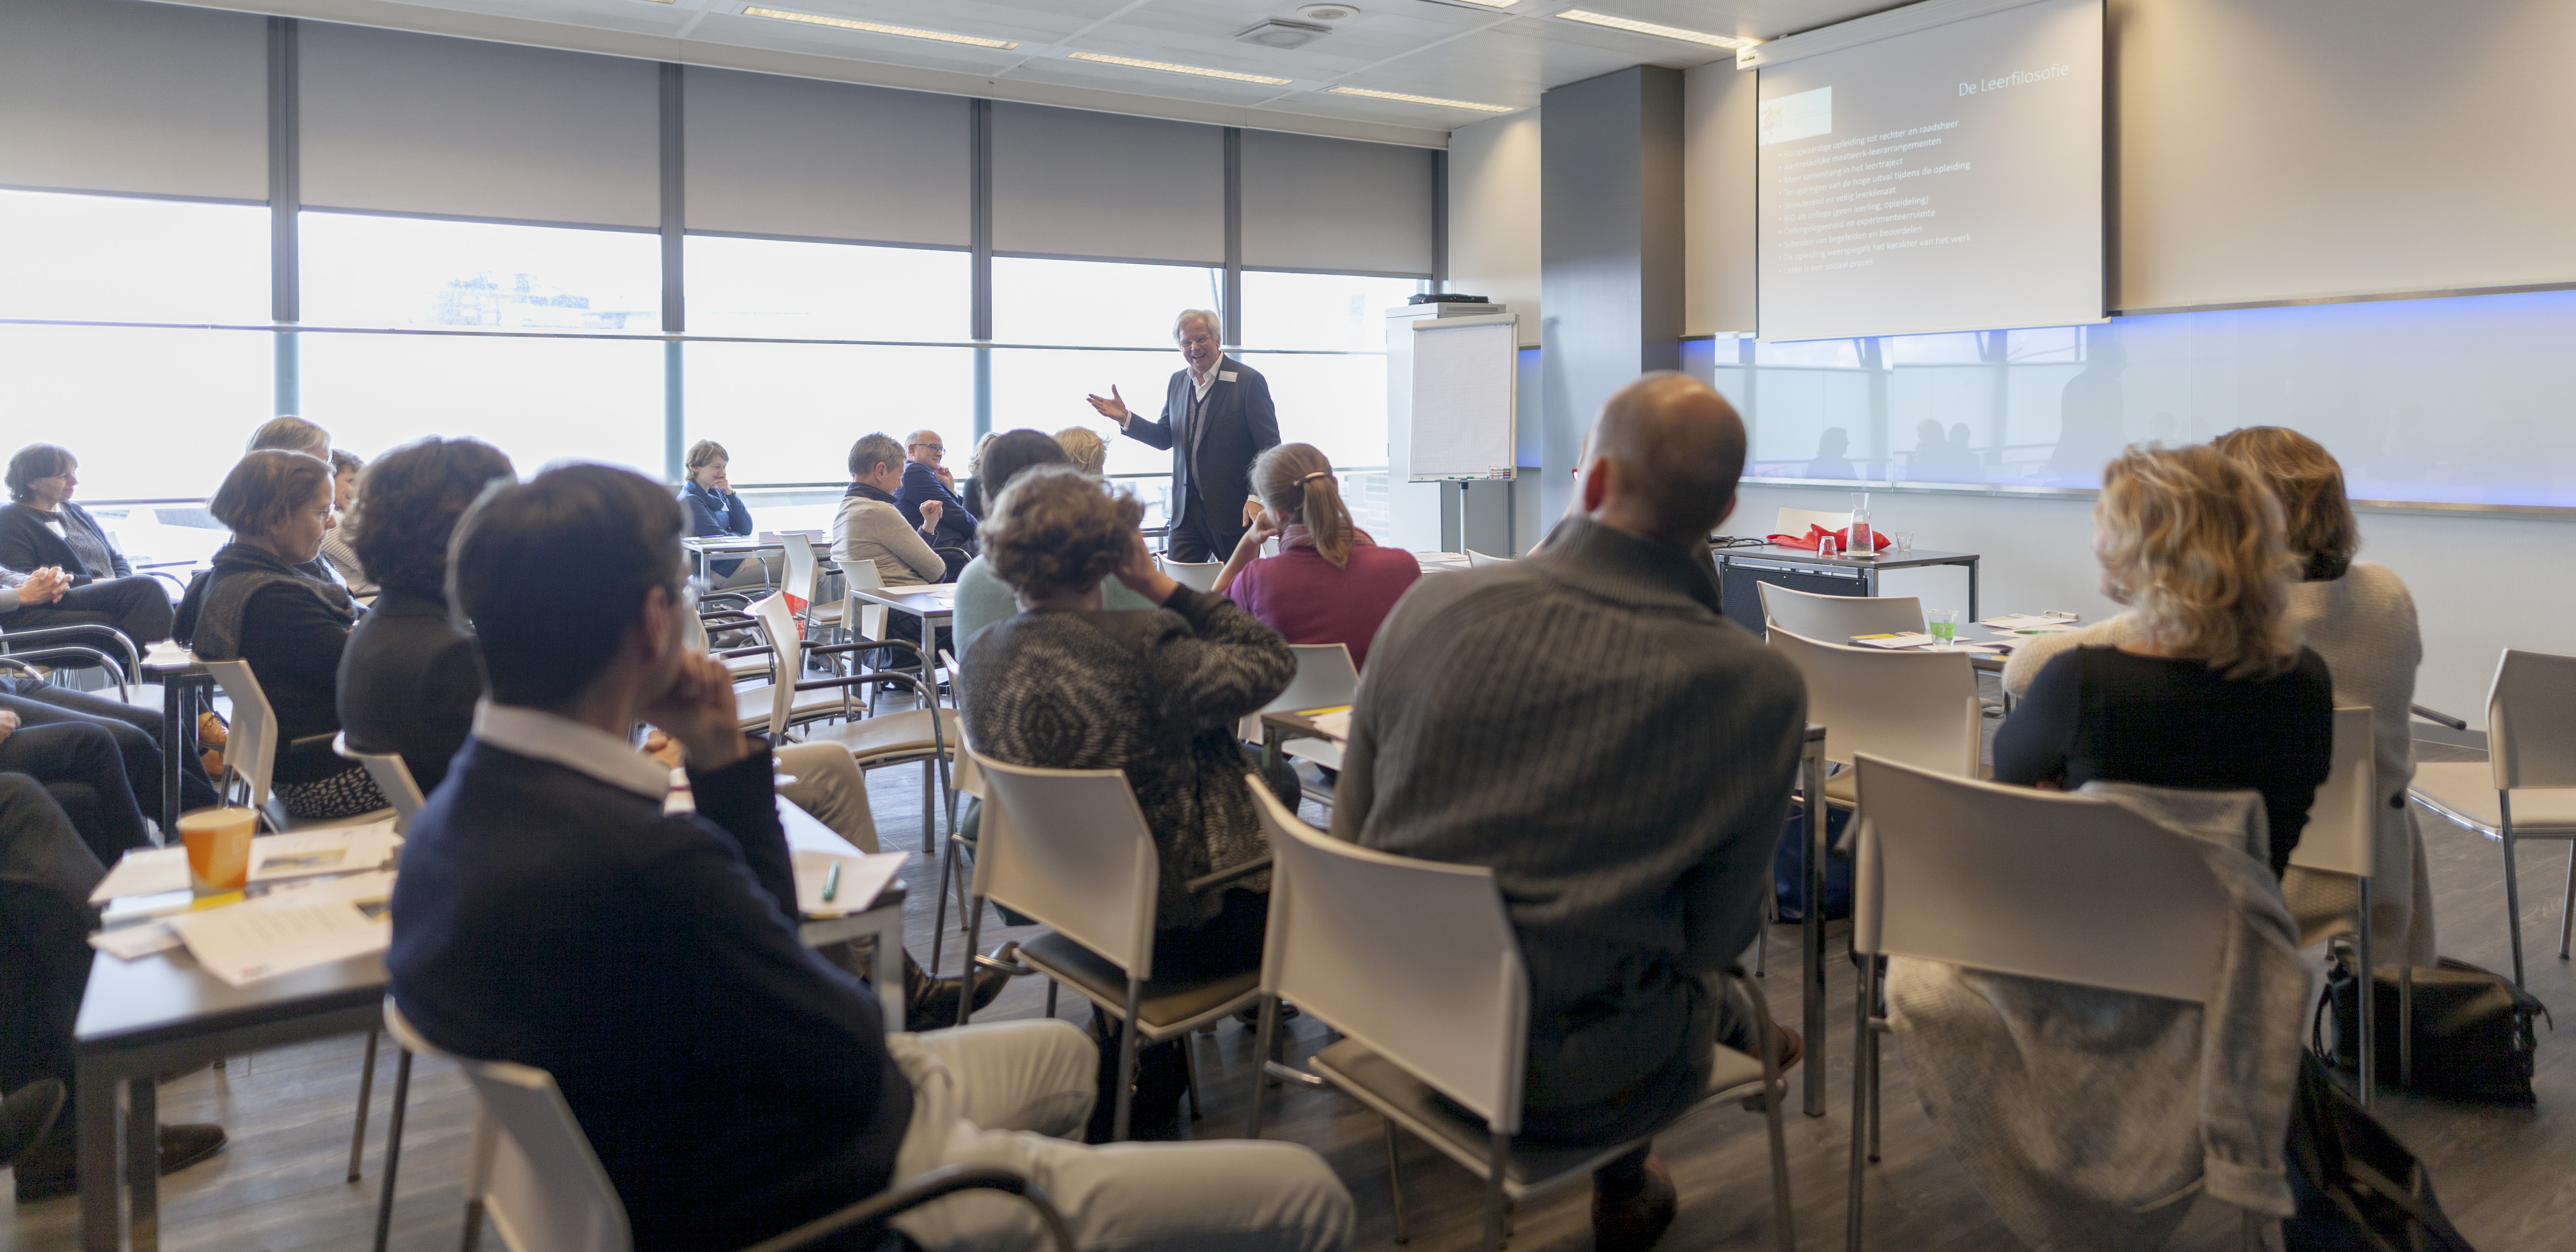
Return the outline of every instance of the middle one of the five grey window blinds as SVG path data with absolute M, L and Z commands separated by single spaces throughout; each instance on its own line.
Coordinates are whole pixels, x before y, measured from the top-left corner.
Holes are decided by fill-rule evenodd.
M 969 100 L 688 70 L 688 229 L 966 247 Z

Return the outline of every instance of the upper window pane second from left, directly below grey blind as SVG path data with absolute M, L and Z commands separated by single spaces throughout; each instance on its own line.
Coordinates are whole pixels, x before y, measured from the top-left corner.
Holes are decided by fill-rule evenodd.
M 304 325 L 662 330 L 662 240 L 420 216 L 301 214 Z

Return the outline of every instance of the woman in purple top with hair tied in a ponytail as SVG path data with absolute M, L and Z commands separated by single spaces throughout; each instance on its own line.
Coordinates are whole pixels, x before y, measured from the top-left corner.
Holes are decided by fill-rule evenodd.
M 1252 461 L 1252 489 L 1262 515 L 1216 574 L 1216 590 L 1291 644 L 1345 644 L 1350 665 L 1365 665 L 1368 641 L 1422 577 L 1422 562 L 1352 526 L 1332 461 L 1314 443 L 1265 451 Z M 1278 556 L 1262 556 L 1270 536 L 1280 541 Z

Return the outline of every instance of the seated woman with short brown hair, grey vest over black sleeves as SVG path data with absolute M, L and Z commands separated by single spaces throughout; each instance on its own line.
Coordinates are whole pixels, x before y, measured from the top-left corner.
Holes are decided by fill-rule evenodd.
M 278 721 L 270 788 L 301 819 L 384 806 L 366 768 L 327 742 L 340 729 L 340 654 L 358 621 L 348 587 L 307 572 L 337 526 L 330 502 L 330 461 L 276 448 L 242 456 L 209 502 L 232 544 L 178 608 L 178 634 L 198 657 L 250 662 Z

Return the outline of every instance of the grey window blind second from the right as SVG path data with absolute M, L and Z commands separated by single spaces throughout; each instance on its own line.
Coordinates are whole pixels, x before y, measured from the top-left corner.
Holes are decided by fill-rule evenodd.
M 1226 260 L 1226 131 L 1190 121 L 992 106 L 999 252 Z

